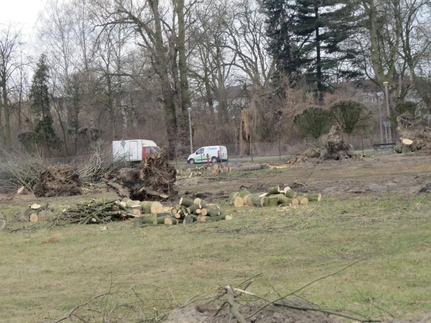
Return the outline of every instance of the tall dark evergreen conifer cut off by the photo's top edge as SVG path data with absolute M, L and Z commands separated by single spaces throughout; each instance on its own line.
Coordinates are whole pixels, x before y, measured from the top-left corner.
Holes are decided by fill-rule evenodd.
M 329 82 L 359 75 L 357 52 L 348 43 L 357 31 L 355 2 L 264 0 L 263 6 L 269 51 L 278 53 L 280 70 L 301 71 L 319 102 Z

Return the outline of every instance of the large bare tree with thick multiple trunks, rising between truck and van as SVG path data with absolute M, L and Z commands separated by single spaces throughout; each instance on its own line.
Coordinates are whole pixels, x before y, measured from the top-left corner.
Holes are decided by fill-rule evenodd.
M 184 0 L 124 2 L 95 0 L 103 26 L 121 24 L 135 31 L 135 41 L 150 58 L 161 86 L 168 142 L 187 149 L 187 108 L 190 97 L 186 62 Z M 192 6 L 190 4 L 189 6 Z

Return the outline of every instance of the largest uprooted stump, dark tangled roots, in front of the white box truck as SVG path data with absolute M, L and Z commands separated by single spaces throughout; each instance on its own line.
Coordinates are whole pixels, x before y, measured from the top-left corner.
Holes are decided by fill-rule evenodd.
M 178 190 L 174 184 L 176 170 L 169 165 L 167 150 L 162 148 L 145 157 L 136 168 L 121 168 L 115 175 L 115 183 L 107 182 L 119 196 L 124 197 L 122 187 L 127 188 L 132 200 L 153 201 L 175 199 Z

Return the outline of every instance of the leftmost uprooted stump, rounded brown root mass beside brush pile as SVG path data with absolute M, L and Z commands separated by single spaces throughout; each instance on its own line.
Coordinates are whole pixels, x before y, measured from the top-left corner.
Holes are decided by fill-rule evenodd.
M 69 165 L 41 167 L 33 193 L 35 197 L 81 195 L 81 179 Z

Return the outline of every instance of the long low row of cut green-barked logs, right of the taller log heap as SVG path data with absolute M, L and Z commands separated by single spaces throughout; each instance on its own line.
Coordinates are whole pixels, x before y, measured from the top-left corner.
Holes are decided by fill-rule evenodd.
M 294 206 L 299 204 L 308 204 L 312 201 L 320 202 L 322 195 L 303 194 L 293 191 L 290 187 L 280 190 L 279 186 L 271 187 L 263 194 L 251 194 L 248 191 L 233 192 L 229 195 L 229 204 L 240 207 L 249 206 Z

